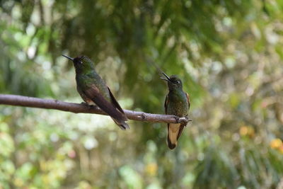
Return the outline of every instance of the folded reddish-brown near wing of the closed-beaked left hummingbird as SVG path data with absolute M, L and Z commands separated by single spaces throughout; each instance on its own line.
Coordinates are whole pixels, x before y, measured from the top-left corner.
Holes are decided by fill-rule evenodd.
M 112 105 L 112 103 L 107 101 L 102 96 L 102 94 L 99 91 L 99 88 L 97 88 L 96 85 L 91 84 L 85 91 L 83 91 L 83 93 L 85 93 L 88 98 L 91 98 L 91 101 L 96 103 L 96 105 L 98 105 L 99 108 L 105 111 L 105 113 L 108 113 L 108 115 L 110 115 L 115 120 L 120 120 L 120 121 L 127 120 L 126 116 L 123 113 L 120 113 L 120 111 L 118 111 L 116 107 Z

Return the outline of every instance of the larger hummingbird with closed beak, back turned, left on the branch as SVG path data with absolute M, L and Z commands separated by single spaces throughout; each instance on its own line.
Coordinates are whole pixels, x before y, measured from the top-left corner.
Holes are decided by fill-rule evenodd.
M 88 105 L 98 105 L 122 129 L 129 129 L 127 117 L 117 103 L 110 88 L 94 69 L 94 64 L 86 56 L 71 58 L 62 55 L 74 63 L 76 70 L 76 90 Z

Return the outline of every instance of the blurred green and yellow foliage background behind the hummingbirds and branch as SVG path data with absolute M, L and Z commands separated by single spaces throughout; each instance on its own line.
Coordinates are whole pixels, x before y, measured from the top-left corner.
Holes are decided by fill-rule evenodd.
M 191 122 L 166 125 L 2 105 L 0 188 L 279 188 L 283 1 L 0 1 L 0 93 L 80 103 L 87 55 L 123 108 L 163 113 L 178 74 Z

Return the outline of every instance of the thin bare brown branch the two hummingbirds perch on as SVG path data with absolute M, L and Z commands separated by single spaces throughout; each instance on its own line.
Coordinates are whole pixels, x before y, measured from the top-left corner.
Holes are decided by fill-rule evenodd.
M 95 113 L 100 115 L 107 115 L 100 110 L 96 105 L 89 106 L 79 103 L 66 103 L 62 101 L 52 99 L 34 98 L 29 96 L 18 96 L 18 95 L 6 95 L 0 94 L 0 104 L 3 105 L 17 105 L 25 106 L 30 108 L 45 108 L 62 110 L 71 113 Z M 190 122 L 192 120 L 188 118 L 178 118 L 174 115 L 162 115 L 137 112 L 132 110 L 124 110 L 129 120 L 137 120 L 142 122 Z

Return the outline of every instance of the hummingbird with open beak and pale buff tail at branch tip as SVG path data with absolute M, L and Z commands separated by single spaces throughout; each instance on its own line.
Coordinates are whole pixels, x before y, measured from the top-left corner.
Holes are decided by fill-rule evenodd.
M 169 77 L 164 72 L 162 74 L 166 78 L 161 77 L 161 79 L 167 81 L 169 89 L 164 103 L 165 113 L 178 117 L 187 116 L 187 112 L 190 109 L 190 98 L 183 91 L 182 81 L 178 76 L 172 75 Z M 177 141 L 186 125 L 186 123 L 168 123 L 167 142 L 170 149 L 174 149 L 177 146 Z

